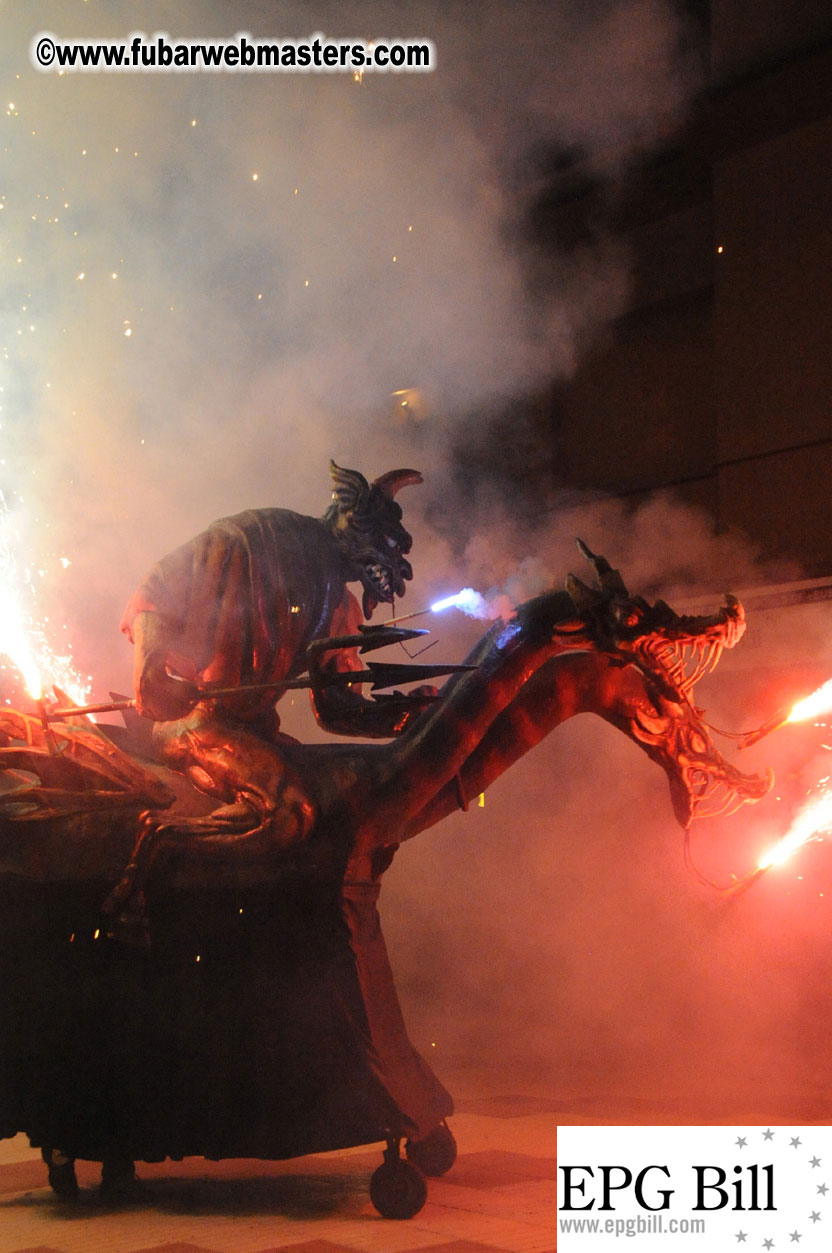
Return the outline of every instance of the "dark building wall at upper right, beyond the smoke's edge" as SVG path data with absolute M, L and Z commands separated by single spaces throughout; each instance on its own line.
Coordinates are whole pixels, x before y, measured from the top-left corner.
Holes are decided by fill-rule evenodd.
M 832 6 L 714 3 L 712 30 L 714 64 L 734 76 L 633 189 L 630 308 L 554 397 L 553 469 L 635 497 L 675 487 L 719 529 L 819 575 L 832 571 Z

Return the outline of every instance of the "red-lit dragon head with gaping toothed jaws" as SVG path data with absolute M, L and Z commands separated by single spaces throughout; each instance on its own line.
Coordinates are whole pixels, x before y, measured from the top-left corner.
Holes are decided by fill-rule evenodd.
M 722 650 L 743 637 L 741 603 L 727 595 L 715 614 L 679 615 L 663 600 L 649 604 L 630 595 L 609 561 L 581 540 L 578 544 L 594 568 L 595 585 L 573 574 L 566 578 L 566 591 L 588 628 L 575 643 L 584 634 L 583 647 L 594 645 L 614 663 L 639 672 L 642 682 L 619 703 L 615 720 L 667 772 L 680 824 L 688 828 L 694 817 L 731 813 L 766 796 L 773 783 L 771 771 L 743 774 L 725 761 L 693 700 L 695 684 L 714 669 Z M 564 624 L 566 632 L 569 626 Z

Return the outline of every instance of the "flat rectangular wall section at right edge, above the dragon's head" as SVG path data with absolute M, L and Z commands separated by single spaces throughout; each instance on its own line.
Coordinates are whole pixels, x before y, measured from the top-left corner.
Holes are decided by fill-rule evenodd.
M 832 559 L 832 117 L 714 167 L 718 516 Z

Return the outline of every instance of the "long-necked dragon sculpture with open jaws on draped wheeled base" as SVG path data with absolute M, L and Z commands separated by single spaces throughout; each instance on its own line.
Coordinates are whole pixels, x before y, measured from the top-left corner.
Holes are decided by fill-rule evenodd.
M 281 1030 L 291 1034 L 293 1027 L 284 1009 L 286 999 L 294 995 L 299 1004 L 298 989 L 304 990 L 303 996 L 311 995 L 315 981 L 322 980 L 322 986 L 330 990 L 326 1007 L 321 1009 L 328 1025 L 326 1031 L 320 1024 L 313 1027 L 316 1041 L 320 1044 L 323 1031 L 335 1048 L 332 1040 L 343 1039 L 343 1021 L 347 1020 L 362 1041 L 361 1061 L 351 1054 L 350 1065 L 357 1070 L 350 1084 L 363 1093 L 363 1113 L 346 1114 L 337 1101 L 333 1113 L 323 1101 L 326 1108 L 321 1108 L 320 1118 L 304 1115 L 308 1126 L 303 1133 L 298 1131 L 299 1115 L 291 1101 L 294 1114 L 292 1118 L 286 1115 L 281 1124 L 283 1131 L 274 1114 L 268 1128 L 258 1124 L 257 1131 L 251 1125 L 241 1131 L 237 1123 L 232 1126 L 228 1121 L 231 1114 L 223 1121 L 217 1113 L 216 1085 L 208 1099 L 209 1104 L 213 1101 L 214 1121 L 207 1126 L 200 1104 L 205 1101 L 204 1091 L 193 1096 L 188 1118 L 183 1115 L 172 1125 L 167 1108 L 169 1096 L 159 1095 L 163 1085 L 154 1104 L 147 1091 L 140 1101 L 135 1094 L 132 1100 L 124 1094 L 122 1080 L 117 1084 L 118 1101 L 113 1098 L 119 1116 L 112 1105 L 107 1116 L 100 1111 L 93 1116 L 88 1105 L 100 1100 L 94 1086 L 96 1083 L 100 1086 L 98 1068 L 95 1079 L 88 1075 L 84 1080 L 78 1074 L 73 1079 L 75 1089 L 88 1094 L 83 1118 L 76 1104 L 69 1101 L 68 1106 L 64 1086 L 56 1090 L 51 1080 L 41 1084 L 49 1096 L 41 1091 L 38 1099 L 31 1095 L 31 1080 L 25 1098 L 19 1094 L 13 1098 L 0 1084 L 0 1134 L 25 1130 L 34 1144 L 44 1146 L 46 1155 L 56 1153 L 58 1145 L 63 1154 L 60 1165 L 55 1165 L 58 1158 L 49 1158 L 55 1187 L 64 1178 L 59 1174 L 63 1164 L 69 1162 L 70 1175 L 60 1187 L 71 1190 L 73 1157 L 89 1157 L 105 1164 L 108 1157 L 158 1159 L 182 1153 L 288 1157 L 386 1139 L 388 1152 L 380 1168 L 383 1178 L 376 1187 L 376 1193 L 383 1194 L 382 1203 L 373 1199 L 382 1212 L 397 1212 L 398 1202 L 390 1203 L 390 1194 L 392 1187 L 392 1193 L 398 1195 L 400 1184 L 391 1184 L 391 1180 L 393 1177 L 398 1180 L 396 1172 L 406 1165 L 398 1162 L 398 1140 L 408 1136 L 417 1157 L 419 1146 L 442 1129 L 451 1108 L 447 1093 L 407 1040 L 381 937 L 376 911 L 378 885 L 398 846 L 455 809 L 466 808 L 469 798 L 484 792 L 556 725 L 584 712 L 595 713 L 615 725 L 665 771 L 673 809 L 684 828 L 697 816 L 764 796 L 771 777 L 743 774 L 729 764 L 714 747 L 703 712 L 694 704 L 695 683 L 713 669 L 722 649 L 733 648 L 744 632 L 742 605 L 728 596 L 713 615 L 680 616 L 664 601 L 649 604 L 630 595 L 620 574 L 604 558 L 594 555 L 585 545 L 581 551 L 593 568 L 591 585 L 569 575 L 565 590 L 538 596 L 520 605 L 509 620 L 495 623 L 466 658 L 467 668 L 451 675 L 440 699 L 429 703 L 397 739 L 283 746 L 312 814 L 306 838 L 291 846 L 286 846 L 281 831 L 274 829 L 278 821 L 274 814 L 237 828 L 218 823 L 209 812 L 212 802 L 182 776 L 125 751 L 105 728 L 88 719 L 45 724 L 34 714 L 13 709 L 0 712 L 0 771 L 5 788 L 0 796 L 0 895 L 6 903 L 13 902 L 16 918 L 21 917 L 21 892 L 24 897 L 26 891 L 35 893 L 39 916 L 46 910 L 44 893 L 51 902 L 53 915 L 55 900 L 64 902 L 59 907 L 63 931 L 61 927 L 55 931 L 50 954 L 58 952 L 55 946 L 60 941 L 63 949 L 55 960 L 64 962 L 65 977 L 69 977 L 65 932 L 74 927 L 74 945 L 81 931 L 91 936 L 94 927 L 95 936 L 100 931 L 104 937 L 107 923 L 100 907 L 108 885 L 112 890 L 113 883 L 118 883 L 108 905 L 110 930 L 118 935 L 115 923 L 120 920 L 129 932 L 135 901 L 147 896 L 153 940 L 149 952 L 110 942 L 113 951 L 128 955 L 114 959 L 117 964 L 169 965 L 179 960 L 175 954 L 172 956 L 168 932 L 183 926 L 182 901 L 198 910 L 193 902 L 208 900 L 208 912 L 216 915 L 219 927 L 221 922 L 226 926 L 228 916 L 223 915 L 218 901 L 228 903 L 233 897 L 233 913 L 242 916 L 243 906 L 237 906 L 238 900 L 249 900 L 252 893 L 259 900 L 258 893 L 278 883 L 284 902 L 282 921 L 276 921 L 281 910 L 272 908 L 268 923 L 263 922 L 263 926 L 284 927 L 279 936 L 272 935 L 269 956 L 263 959 L 272 962 L 269 969 L 278 984 L 286 977 L 289 957 L 286 951 L 276 952 L 276 946 L 289 944 L 287 937 L 292 928 L 302 930 L 307 947 L 316 952 L 327 928 L 333 935 L 337 932 L 340 940 L 333 941 L 335 947 L 326 960 L 321 959 L 321 965 L 312 962 L 312 975 L 307 960 L 301 961 L 293 990 L 287 991 L 281 984 L 284 995 L 279 1005 L 269 1002 L 269 1014 L 278 1017 L 282 1014 Z M 222 751 L 221 739 L 217 732 L 217 752 Z M 205 751 L 211 747 L 208 743 Z M 127 872 L 125 863 L 129 863 Z M 69 898 L 75 902 L 71 908 L 65 905 Z M 174 900 L 179 903 L 172 905 Z M 292 903 L 286 905 L 287 900 Z M 29 931 L 25 923 L 21 926 L 31 935 L 31 926 Z M 85 942 L 88 960 L 100 962 L 99 957 L 90 956 L 91 940 Z M 15 949 L 18 960 L 23 951 L 20 945 Z M 99 951 L 100 944 L 95 952 Z M 73 954 L 73 960 L 80 960 L 74 947 Z M 43 952 L 40 960 L 43 970 L 46 961 Z M 187 984 L 177 992 L 180 997 L 197 995 L 192 980 L 199 967 L 194 967 L 192 952 L 188 962 Z M 162 966 L 154 969 L 160 971 Z M 115 1049 L 122 1059 L 119 1065 L 124 1066 L 128 1066 L 124 1056 L 129 1053 L 133 1058 L 137 1049 L 135 1032 L 144 1039 L 149 1030 L 148 1016 L 157 1012 L 155 1001 L 150 1005 L 148 994 L 135 984 L 147 975 L 135 974 L 133 966 L 129 970 L 133 971 L 129 977 L 120 966 L 118 979 L 112 971 L 107 975 L 110 980 L 107 984 L 108 1014 L 112 1014 L 113 999 L 118 1000 L 125 1021 L 133 1022 L 135 1029 L 128 1042 L 122 1040 L 122 1053 L 115 1044 L 108 1044 L 108 1056 Z M 147 971 L 147 966 L 142 970 Z M 6 969 L 0 977 L 15 976 Z M 127 1007 L 125 977 L 128 982 L 134 980 L 130 985 L 133 999 Z M 162 979 L 162 974 L 158 977 Z M 164 977 L 173 977 L 167 966 Z M 345 980 L 352 992 L 345 991 Z M 263 984 L 258 987 L 262 997 Z M 237 1001 L 219 985 L 212 992 L 213 1010 L 223 995 L 228 997 L 223 1002 L 226 1011 L 233 1016 Z M 138 1026 L 135 1016 L 132 1017 L 138 1012 L 134 1009 L 137 999 L 144 1006 Z M 337 1011 L 341 1015 L 336 1015 L 337 1021 L 331 1016 L 336 1014 L 332 1007 L 336 1002 L 342 1007 Z M 44 1012 L 43 1001 L 39 1001 L 33 1014 L 39 1024 L 36 1030 L 41 1032 Z M 65 1039 L 68 1032 L 71 1035 L 80 1029 L 71 1006 L 65 1005 L 61 1012 L 64 1017 L 50 1030 L 59 1036 L 63 1032 Z M 218 1019 L 212 1021 L 212 1032 L 222 1034 Z M 257 1030 L 261 1034 L 264 1030 L 262 1019 Z M 117 1016 L 113 1032 L 118 1036 L 120 1031 Z M 228 1045 L 228 1056 L 241 1048 L 239 1032 L 234 1037 L 237 1042 Z M 199 1048 L 208 1048 L 202 1036 L 192 1045 L 189 1076 L 194 1068 L 199 1069 L 193 1056 Z M 160 1065 L 159 1056 L 167 1049 L 148 1048 L 150 1060 L 143 1054 L 143 1075 L 148 1068 L 153 1070 Z M 216 1051 L 219 1045 L 212 1040 L 211 1048 Z M 274 1042 L 272 1049 L 277 1049 Z M 5 1053 L 6 1071 L 14 1071 L 14 1059 L 19 1063 L 21 1050 L 25 1051 L 25 1044 L 19 1035 L 11 1042 L 0 1040 L 0 1061 Z M 287 1050 L 281 1065 L 291 1070 L 297 1063 L 289 1059 L 294 1050 L 288 1046 Z M 76 1048 L 75 1055 L 80 1051 Z M 312 1049 L 311 1054 L 317 1059 L 318 1049 Z M 309 1050 L 303 1055 L 306 1068 L 321 1065 L 326 1070 L 322 1060 L 309 1061 Z M 214 1065 L 214 1054 L 212 1059 Z M 165 1065 L 169 1064 L 165 1060 Z M 78 1065 L 83 1070 L 83 1065 Z M 223 1061 L 223 1066 L 227 1065 L 234 1075 L 242 1074 L 234 1069 L 237 1059 Z M 347 1063 L 342 1060 L 341 1065 L 347 1066 Z M 53 1059 L 54 1066 L 60 1070 Z M 182 1075 L 178 1081 L 183 1083 Z M 237 1095 L 242 1079 L 239 1084 Z M 311 1099 L 318 1109 L 320 1091 L 327 1084 L 333 1085 L 328 1070 L 326 1074 L 316 1071 L 311 1078 L 304 1070 L 296 1086 L 313 1091 Z M 273 1103 L 282 1101 L 281 1109 L 286 1110 L 286 1076 L 279 1096 L 259 1093 L 257 1100 L 252 1098 L 249 1118 L 257 1121 L 257 1110 L 268 1106 L 272 1098 Z M 164 1126 L 148 1123 L 148 1104 Z M 367 1109 L 372 1110 L 372 1116 Z M 194 1125 L 200 1119 L 203 1125 Z M 118 1131 L 113 1130 L 115 1124 Z M 408 1202 L 403 1209 L 412 1212 L 412 1204 Z

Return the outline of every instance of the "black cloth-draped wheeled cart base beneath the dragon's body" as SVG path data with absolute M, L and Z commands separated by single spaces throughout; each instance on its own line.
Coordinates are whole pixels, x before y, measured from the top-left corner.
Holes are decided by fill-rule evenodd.
M 417 1213 L 425 1175 L 456 1157 L 452 1101 L 407 1039 L 378 883 L 313 852 L 244 875 L 168 860 L 148 883 L 152 944 L 133 947 L 101 916 L 133 829 L 122 812 L 105 838 L 100 816 L 94 838 L 83 816 L 0 831 L 0 1135 L 25 1131 L 63 1195 L 75 1158 L 383 1141 L 372 1202 Z

